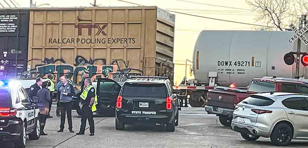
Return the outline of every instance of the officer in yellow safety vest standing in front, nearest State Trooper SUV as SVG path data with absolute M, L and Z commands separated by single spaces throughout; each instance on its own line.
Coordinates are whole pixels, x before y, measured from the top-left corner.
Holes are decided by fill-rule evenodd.
M 83 92 L 80 95 L 79 107 L 81 113 L 81 125 L 77 135 L 84 135 L 86 121 L 88 119 L 90 125 L 90 136 L 94 136 L 94 120 L 93 113 L 96 111 L 97 95 L 90 78 L 84 80 Z

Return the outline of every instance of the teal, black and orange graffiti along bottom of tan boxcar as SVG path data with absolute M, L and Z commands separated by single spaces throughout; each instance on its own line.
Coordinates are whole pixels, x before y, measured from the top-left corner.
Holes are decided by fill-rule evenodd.
M 33 69 L 30 67 L 30 61 L 39 61 Z M 56 64 L 60 62 L 61 64 Z M 116 82 L 124 82 L 130 76 L 141 76 L 143 71 L 140 69 L 129 68 L 123 59 L 112 59 L 110 65 L 106 65 L 106 59 L 86 59 L 83 56 L 76 56 L 73 65 L 66 64 L 64 59 L 31 59 L 28 61 L 28 69 L 24 71 L 20 78 L 46 77 L 47 74 L 54 74 L 58 82 L 59 77 L 66 75 L 74 84 L 81 84 L 83 77 L 90 77 L 93 81 L 97 78 L 111 78 Z M 123 65 L 123 66 L 122 66 Z M 123 67 L 123 69 L 122 69 Z

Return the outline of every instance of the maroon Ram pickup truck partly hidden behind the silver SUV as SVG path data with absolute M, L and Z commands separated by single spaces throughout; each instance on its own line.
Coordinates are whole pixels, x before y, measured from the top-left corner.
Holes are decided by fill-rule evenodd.
M 229 127 L 235 106 L 249 97 L 260 92 L 289 92 L 308 94 L 308 82 L 291 78 L 263 77 L 254 78 L 248 89 L 216 87 L 208 91 L 205 111 L 216 114 L 222 125 Z

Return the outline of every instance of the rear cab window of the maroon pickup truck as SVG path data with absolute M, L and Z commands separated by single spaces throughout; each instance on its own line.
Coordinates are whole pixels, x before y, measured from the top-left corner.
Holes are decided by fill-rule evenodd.
M 256 93 L 275 91 L 275 84 L 266 81 L 252 81 L 248 91 Z

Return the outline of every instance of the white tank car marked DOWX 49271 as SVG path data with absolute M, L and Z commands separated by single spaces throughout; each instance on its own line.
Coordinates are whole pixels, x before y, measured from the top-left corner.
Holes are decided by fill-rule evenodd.
M 194 48 L 195 79 L 209 82 L 208 73 L 217 71 L 222 86 L 246 87 L 253 78 L 263 76 L 292 78 L 296 64 L 289 66 L 283 60 L 287 52 L 296 51 L 297 41 L 288 43 L 291 36 L 290 31 L 204 30 Z M 303 44 L 302 51 L 307 51 Z

